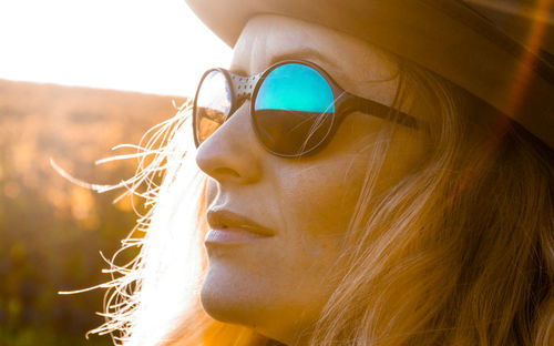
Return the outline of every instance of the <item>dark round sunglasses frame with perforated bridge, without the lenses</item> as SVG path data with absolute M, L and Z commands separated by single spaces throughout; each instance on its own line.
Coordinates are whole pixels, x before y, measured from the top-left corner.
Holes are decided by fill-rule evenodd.
M 261 135 L 258 132 L 257 126 L 254 124 L 256 121 L 254 119 L 255 114 L 255 106 L 256 106 L 256 96 L 258 94 L 259 88 L 261 86 L 264 80 L 266 77 L 271 73 L 275 69 L 285 65 L 285 64 L 304 64 L 307 65 L 314 70 L 316 70 L 329 84 L 332 96 L 335 99 L 335 112 L 332 113 L 332 120 L 331 120 L 331 125 L 329 126 L 329 130 L 325 134 L 325 136 L 321 139 L 321 141 L 317 144 L 315 144 L 312 147 L 310 147 L 307 151 L 302 151 L 298 154 L 283 154 L 279 152 L 276 152 L 271 149 L 269 149 L 264 141 L 261 140 Z M 194 103 L 193 103 L 193 132 L 194 132 L 194 143 L 196 144 L 196 147 L 199 146 L 199 140 L 196 134 L 196 125 L 197 125 L 197 120 L 196 120 L 196 101 L 198 99 L 198 93 L 201 91 L 202 84 L 204 82 L 204 79 L 209 75 L 209 73 L 218 71 L 222 72 L 225 79 L 227 80 L 227 84 L 229 86 L 229 92 L 230 92 L 230 109 L 229 113 L 224 120 L 224 123 L 233 116 L 233 114 L 237 111 L 237 109 L 245 102 L 246 100 L 250 100 L 250 124 L 254 128 L 254 131 L 256 133 L 256 136 L 258 138 L 258 141 L 261 143 L 265 150 L 270 152 L 274 155 L 281 156 L 281 157 L 299 157 L 299 156 L 308 156 L 317 153 L 318 151 L 322 150 L 330 139 L 335 135 L 337 129 L 339 128 L 340 123 L 342 120 L 346 118 L 346 115 L 359 111 L 368 115 L 386 119 L 386 120 L 391 120 L 394 121 L 396 123 L 399 123 L 401 125 L 411 128 L 411 129 L 418 129 L 419 123 L 416 118 L 406 114 L 392 106 L 384 105 L 382 103 L 379 103 L 377 101 L 372 101 L 369 99 L 363 99 L 357 95 L 353 95 L 342 88 L 340 88 L 337 82 L 327 73 L 319 65 L 305 61 L 305 60 L 283 60 L 279 61 L 269 68 L 267 68 L 265 71 L 250 75 L 250 77 L 244 77 L 239 74 L 235 74 L 229 72 L 226 69 L 209 69 L 206 72 L 204 72 L 201 82 L 198 83 L 198 88 L 196 90 L 196 94 L 194 98 Z

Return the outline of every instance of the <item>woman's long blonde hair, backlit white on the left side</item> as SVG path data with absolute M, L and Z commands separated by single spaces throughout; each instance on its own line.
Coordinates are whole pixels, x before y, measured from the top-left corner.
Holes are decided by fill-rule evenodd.
M 368 170 L 310 345 L 554 344 L 552 151 L 479 100 L 418 67 L 401 64 L 397 106 L 427 110 L 429 154 L 400 182 L 376 189 L 393 122 Z M 273 345 L 216 322 L 199 305 L 206 269 L 204 177 L 189 141 L 187 104 L 141 151 L 131 182 L 151 201 L 144 238 L 107 285 L 106 324 L 124 345 Z M 148 147 L 150 146 L 150 147 Z M 147 157 L 151 159 L 147 159 Z M 152 175 L 163 173 L 163 183 Z

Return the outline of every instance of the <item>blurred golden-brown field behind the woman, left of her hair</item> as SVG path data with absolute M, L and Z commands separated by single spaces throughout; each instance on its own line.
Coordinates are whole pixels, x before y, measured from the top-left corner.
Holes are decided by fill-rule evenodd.
M 103 319 L 102 291 L 58 295 L 109 279 L 107 257 L 135 221 L 121 193 L 95 194 L 61 177 L 117 183 L 135 161 L 94 161 L 137 144 L 183 99 L 0 80 L 0 346 L 111 345 L 84 338 Z M 129 258 L 133 254 L 124 254 Z M 125 260 L 125 258 L 122 258 Z

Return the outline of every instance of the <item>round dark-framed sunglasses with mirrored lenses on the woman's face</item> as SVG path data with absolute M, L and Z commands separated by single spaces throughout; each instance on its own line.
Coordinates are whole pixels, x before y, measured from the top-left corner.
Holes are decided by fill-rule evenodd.
M 283 157 L 325 147 L 345 116 L 359 111 L 417 129 L 411 115 L 352 95 L 315 63 L 278 62 L 252 77 L 225 69 L 204 73 L 193 106 L 194 141 L 199 146 L 249 99 L 252 125 L 261 145 Z

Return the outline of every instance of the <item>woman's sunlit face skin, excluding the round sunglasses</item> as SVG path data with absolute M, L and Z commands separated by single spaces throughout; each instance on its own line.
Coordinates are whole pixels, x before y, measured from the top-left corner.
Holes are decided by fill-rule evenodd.
M 285 59 L 322 67 L 348 92 L 391 104 L 397 64 L 352 37 L 285 17 L 248 22 L 230 71 L 253 75 Z M 402 109 L 407 111 L 406 109 Z M 198 149 L 207 187 L 209 267 L 202 303 L 214 318 L 293 343 L 308 332 L 336 288 L 329 268 L 341 242 L 383 120 L 351 113 L 317 154 L 267 152 L 250 125 L 249 101 Z M 394 132 L 380 186 L 398 182 L 423 155 L 413 130 Z M 263 236 L 255 233 L 264 233 Z

